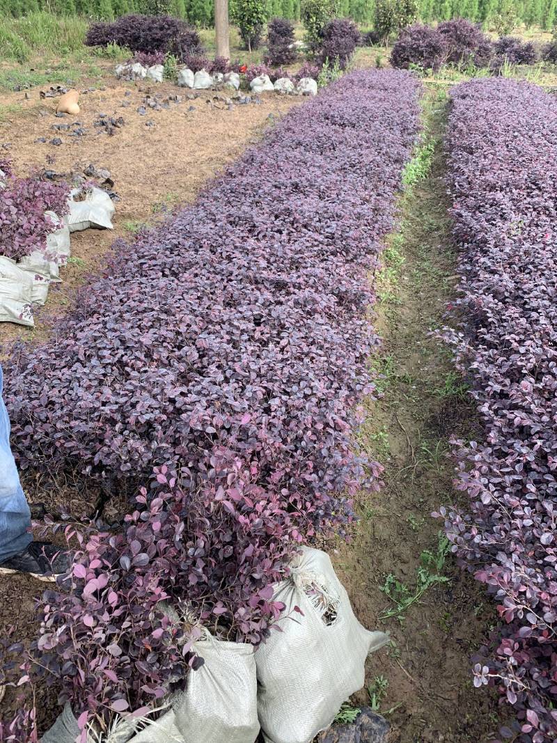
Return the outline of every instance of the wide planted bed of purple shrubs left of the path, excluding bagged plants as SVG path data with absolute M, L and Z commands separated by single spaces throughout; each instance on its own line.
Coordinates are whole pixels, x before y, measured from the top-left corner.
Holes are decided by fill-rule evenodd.
M 345 77 L 195 207 L 119 244 L 56 344 L 21 347 L 5 367 L 19 464 L 131 489 L 170 464 L 210 493 L 212 458 L 233 455 L 304 533 L 342 523 L 340 493 L 362 475 L 350 429 L 376 342 L 365 271 L 392 224 L 416 89 L 392 71 Z

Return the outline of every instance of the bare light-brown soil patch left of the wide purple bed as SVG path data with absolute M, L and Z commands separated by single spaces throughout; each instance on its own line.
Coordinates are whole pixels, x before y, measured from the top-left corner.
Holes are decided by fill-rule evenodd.
M 41 100 L 39 89 L 27 92 L 28 100 L 23 92 L 0 96 L 1 105 L 21 106 L 21 111 L 0 122 L 0 146 L 8 145 L 7 150 L 0 152 L 12 158 L 18 175 L 45 168 L 82 175 L 85 166 L 92 163 L 110 170 L 114 190 L 120 197 L 114 231 L 72 234 L 72 256 L 78 260 L 62 269 L 63 283 L 51 287 L 43 313 L 62 314 L 75 288 L 87 280 L 91 271 L 99 269 L 102 256 L 116 237 L 130 236 L 130 227 L 155 221 L 161 212 L 194 201 L 209 178 L 258 141 L 273 120 L 301 101 L 266 94 L 260 97 L 260 105 L 235 105 L 229 111 L 223 100 L 216 98 L 229 97 L 232 92 L 194 92 L 170 82 L 147 85 L 110 78 L 105 88 L 81 94 L 81 112 L 76 117 L 63 118 L 54 115 L 57 99 Z M 155 94 L 161 102 L 176 94 L 182 101 L 171 101 L 170 108 L 154 111 L 146 106 L 145 97 Z M 189 100 L 187 96 L 196 97 Z M 129 105 L 123 108 L 123 103 Z M 146 106 L 143 116 L 137 112 L 140 106 Z M 189 111 L 190 106 L 195 110 Z M 122 116 L 124 126 L 109 136 L 104 127 L 94 126 L 100 113 Z M 85 129 L 82 137 L 70 137 L 68 132 L 52 129 L 74 121 L 81 122 Z M 153 126 L 146 126 L 149 122 Z M 39 137 L 46 137 L 47 142 L 37 142 Z M 62 145 L 51 144 L 54 137 L 59 137 Z M 40 314 L 34 331 L 11 323 L 0 325 L 0 357 L 2 345 L 5 353 L 5 344 L 16 338 L 44 339 L 45 323 Z

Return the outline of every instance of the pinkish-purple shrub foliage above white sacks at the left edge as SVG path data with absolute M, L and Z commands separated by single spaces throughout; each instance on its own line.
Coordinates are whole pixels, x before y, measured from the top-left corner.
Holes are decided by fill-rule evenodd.
M 46 250 L 56 224 L 45 211 L 67 214 L 70 190 L 67 184 L 36 177 L 16 178 L 6 162 L 0 162 L 0 170 L 8 176 L 0 186 L 0 256 L 17 261 L 33 250 Z

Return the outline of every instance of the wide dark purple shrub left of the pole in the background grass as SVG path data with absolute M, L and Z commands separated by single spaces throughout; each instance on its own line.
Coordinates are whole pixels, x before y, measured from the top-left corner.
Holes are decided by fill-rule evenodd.
M 112 23 L 93 23 L 85 44 L 106 46 L 115 43 L 131 51 L 165 52 L 182 58 L 188 53 L 201 53 L 201 42 L 195 28 L 172 16 L 142 16 L 134 13 Z

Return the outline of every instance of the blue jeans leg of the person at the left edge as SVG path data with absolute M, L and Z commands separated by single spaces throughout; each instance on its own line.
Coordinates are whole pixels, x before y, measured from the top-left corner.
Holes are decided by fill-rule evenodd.
M 10 450 L 10 421 L 1 399 L 0 374 L 0 562 L 22 552 L 33 536 L 31 514 Z

